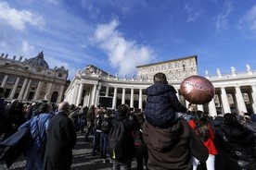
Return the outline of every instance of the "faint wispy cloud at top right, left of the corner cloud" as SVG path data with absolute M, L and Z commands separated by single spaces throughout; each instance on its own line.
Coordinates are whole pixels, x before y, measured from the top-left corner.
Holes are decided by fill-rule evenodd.
M 217 16 L 215 21 L 216 30 L 226 29 L 228 16 L 233 10 L 234 10 L 234 7 L 231 2 L 224 3 L 224 11 Z

